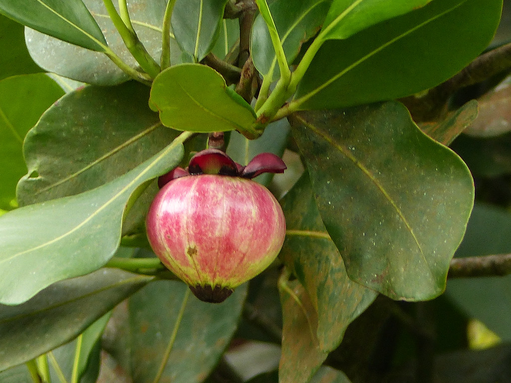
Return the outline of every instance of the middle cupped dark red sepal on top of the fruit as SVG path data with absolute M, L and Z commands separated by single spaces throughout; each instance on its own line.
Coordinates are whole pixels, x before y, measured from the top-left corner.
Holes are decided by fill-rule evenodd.
M 188 165 L 188 172 L 194 174 L 220 174 L 238 176 L 238 166 L 227 154 L 218 149 L 205 149 L 195 154 Z

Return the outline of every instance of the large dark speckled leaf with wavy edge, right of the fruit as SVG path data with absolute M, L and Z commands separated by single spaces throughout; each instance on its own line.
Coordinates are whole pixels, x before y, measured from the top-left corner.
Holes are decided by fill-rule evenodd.
M 463 161 L 397 102 L 293 120 L 322 221 L 350 278 L 393 299 L 441 294 L 474 200 Z

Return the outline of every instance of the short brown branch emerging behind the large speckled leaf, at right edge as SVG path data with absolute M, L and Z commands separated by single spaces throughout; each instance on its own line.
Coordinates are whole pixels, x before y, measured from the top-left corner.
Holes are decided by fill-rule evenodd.
M 511 254 L 493 254 L 452 259 L 448 277 L 493 277 L 508 274 L 511 274 Z

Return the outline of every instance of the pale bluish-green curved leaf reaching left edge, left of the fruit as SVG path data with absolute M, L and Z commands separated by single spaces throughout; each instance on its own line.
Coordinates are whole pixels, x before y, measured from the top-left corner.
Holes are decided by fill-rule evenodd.
M 90 273 L 117 250 L 131 194 L 179 163 L 174 141 L 132 171 L 103 186 L 0 217 L 0 302 L 18 304 L 53 282 Z M 30 228 L 30 233 L 27 232 Z

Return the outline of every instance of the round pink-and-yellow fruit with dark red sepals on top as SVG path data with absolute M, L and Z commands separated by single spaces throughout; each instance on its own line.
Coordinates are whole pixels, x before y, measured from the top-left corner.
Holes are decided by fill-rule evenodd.
M 190 160 L 188 171 L 176 168 L 159 178 L 147 236 L 161 262 L 197 298 L 222 302 L 280 252 L 286 233 L 282 208 L 250 178 L 285 169 L 282 159 L 270 153 L 244 167 L 219 150 L 206 149 Z

